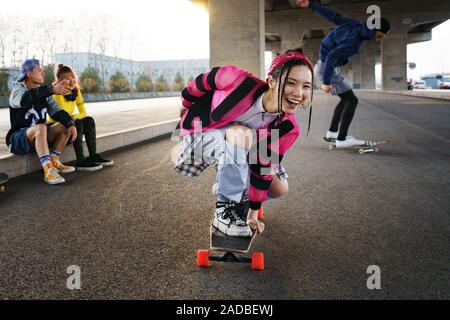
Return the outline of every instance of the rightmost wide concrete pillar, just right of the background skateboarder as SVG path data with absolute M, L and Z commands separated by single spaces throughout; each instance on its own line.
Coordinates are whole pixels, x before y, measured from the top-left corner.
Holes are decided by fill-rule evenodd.
M 407 33 L 389 34 L 381 42 L 383 90 L 406 90 Z

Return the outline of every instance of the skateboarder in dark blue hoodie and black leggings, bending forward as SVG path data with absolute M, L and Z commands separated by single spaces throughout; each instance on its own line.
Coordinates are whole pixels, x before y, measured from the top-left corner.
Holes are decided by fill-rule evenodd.
M 320 44 L 320 61 L 314 68 L 316 78 L 322 81 L 322 90 L 337 95 L 341 100 L 336 106 L 326 139 L 336 141 L 336 148 L 348 148 L 364 145 L 364 140 L 348 136 L 348 129 L 353 120 L 358 98 L 351 85 L 339 70 L 351 57 L 358 53 L 366 40 L 380 41 L 390 31 L 389 21 L 380 18 L 379 29 L 369 29 L 366 23 L 343 17 L 337 12 L 325 8 L 314 0 L 298 0 L 302 8 L 309 8 L 325 19 L 337 25 Z

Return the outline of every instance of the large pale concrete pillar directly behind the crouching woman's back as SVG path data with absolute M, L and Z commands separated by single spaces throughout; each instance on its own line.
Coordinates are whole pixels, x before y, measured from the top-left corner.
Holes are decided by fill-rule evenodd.
M 209 0 L 210 66 L 264 76 L 264 0 Z

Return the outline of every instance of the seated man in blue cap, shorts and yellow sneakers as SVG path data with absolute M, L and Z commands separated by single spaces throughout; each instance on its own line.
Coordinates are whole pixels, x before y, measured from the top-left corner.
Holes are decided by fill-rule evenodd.
M 36 151 L 44 169 L 44 181 L 59 184 L 65 182 L 60 173 L 75 171 L 74 167 L 62 164 L 60 157 L 67 143 L 77 138 L 77 130 L 72 117 L 52 97 L 66 95 L 70 90 L 60 82 L 51 87 L 43 83 L 44 72 L 39 60 L 26 60 L 9 98 L 11 129 L 6 144 L 10 152 L 18 155 Z M 59 123 L 47 127 L 47 113 Z

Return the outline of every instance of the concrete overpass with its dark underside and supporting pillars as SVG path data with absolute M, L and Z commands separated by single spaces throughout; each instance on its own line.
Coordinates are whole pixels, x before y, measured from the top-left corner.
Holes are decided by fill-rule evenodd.
M 234 64 L 264 77 L 264 51 L 303 47 L 314 61 L 320 42 L 334 25 L 316 13 L 298 8 L 296 0 L 194 0 L 209 11 L 210 64 Z M 391 23 L 381 42 L 366 41 L 344 68 L 355 89 L 375 88 L 375 64 L 382 65 L 382 89 L 404 90 L 406 46 L 431 40 L 431 29 L 450 18 L 448 0 L 322 0 L 342 15 L 366 21 L 368 6 L 377 5 Z

